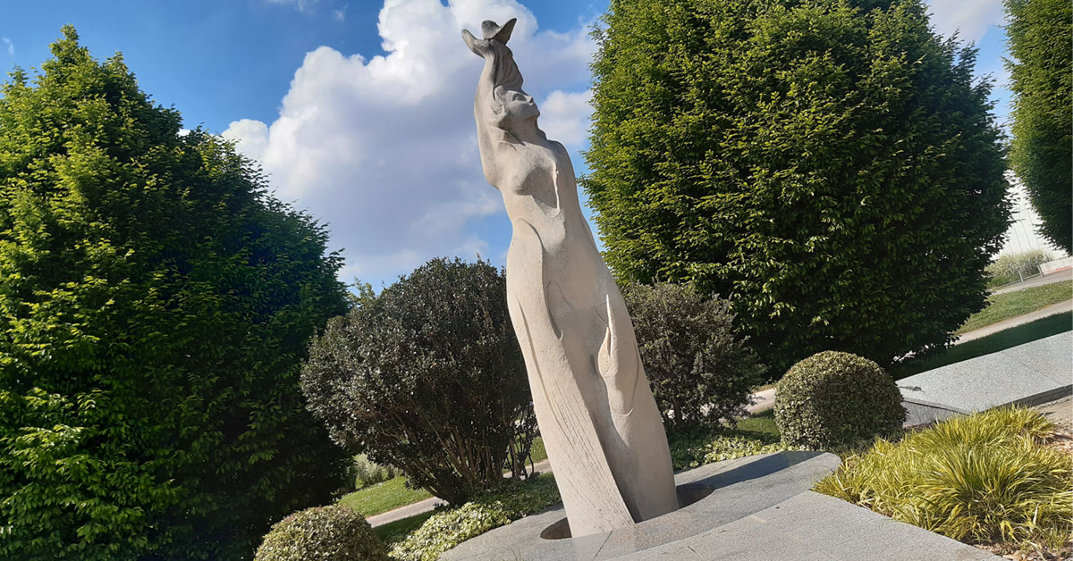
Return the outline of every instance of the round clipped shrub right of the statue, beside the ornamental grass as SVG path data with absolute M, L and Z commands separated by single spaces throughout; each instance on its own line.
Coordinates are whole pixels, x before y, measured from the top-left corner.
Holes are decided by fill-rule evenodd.
M 829 448 L 897 432 L 906 420 L 901 393 L 879 365 L 824 351 L 794 365 L 775 394 L 782 441 Z

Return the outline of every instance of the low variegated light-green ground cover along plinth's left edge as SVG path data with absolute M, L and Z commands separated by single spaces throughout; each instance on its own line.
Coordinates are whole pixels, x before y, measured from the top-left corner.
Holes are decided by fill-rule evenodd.
M 447 549 L 494 528 L 511 523 L 558 503 L 559 490 L 550 474 L 479 493 L 451 511 L 432 515 L 392 548 L 399 561 L 436 561 Z

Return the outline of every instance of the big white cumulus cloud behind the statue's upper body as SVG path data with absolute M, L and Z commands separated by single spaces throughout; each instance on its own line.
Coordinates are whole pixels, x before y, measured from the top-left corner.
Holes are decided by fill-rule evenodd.
M 584 25 L 541 30 L 515 0 L 386 0 L 378 25 L 386 55 L 319 47 L 274 122 L 240 119 L 222 135 L 262 163 L 280 198 L 329 224 L 332 246 L 346 248 L 343 280 L 389 282 L 438 255 L 499 256 L 510 234 L 481 172 L 473 123 L 483 61 L 461 29 L 480 34 L 482 20 L 511 17 L 511 47 L 541 127 L 578 148 L 596 45 Z

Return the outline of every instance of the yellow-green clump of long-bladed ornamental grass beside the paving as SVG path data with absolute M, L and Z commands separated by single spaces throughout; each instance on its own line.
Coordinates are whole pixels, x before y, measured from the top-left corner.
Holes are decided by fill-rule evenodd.
M 1073 532 L 1073 458 L 1039 412 L 1000 409 L 879 440 L 815 490 L 968 543 L 1057 548 Z

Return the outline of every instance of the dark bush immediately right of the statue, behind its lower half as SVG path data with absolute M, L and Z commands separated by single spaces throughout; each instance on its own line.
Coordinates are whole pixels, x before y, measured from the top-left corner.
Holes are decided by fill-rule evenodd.
M 763 367 L 734 331 L 730 302 L 692 284 L 635 285 L 626 294 L 645 373 L 671 428 L 745 413 Z

